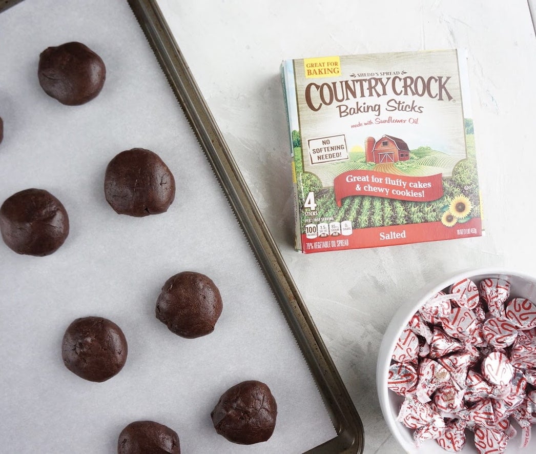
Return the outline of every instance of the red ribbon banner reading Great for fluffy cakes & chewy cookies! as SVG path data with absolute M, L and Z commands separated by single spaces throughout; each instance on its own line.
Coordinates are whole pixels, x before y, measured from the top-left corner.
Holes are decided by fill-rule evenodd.
M 341 173 L 333 181 L 335 200 L 351 195 L 372 195 L 387 199 L 430 202 L 443 196 L 442 174 L 427 177 L 408 177 L 371 170 L 352 170 Z

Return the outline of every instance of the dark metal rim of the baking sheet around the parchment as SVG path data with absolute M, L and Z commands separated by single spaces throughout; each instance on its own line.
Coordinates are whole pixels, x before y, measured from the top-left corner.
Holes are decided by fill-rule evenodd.
M 363 452 L 364 433 L 359 414 L 157 3 L 126 1 L 225 192 L 329 411 L 338 435 L 307 452 Z M 19 2 L 0 0 L 0 12 Z

